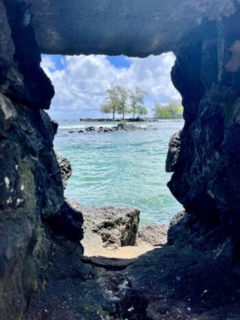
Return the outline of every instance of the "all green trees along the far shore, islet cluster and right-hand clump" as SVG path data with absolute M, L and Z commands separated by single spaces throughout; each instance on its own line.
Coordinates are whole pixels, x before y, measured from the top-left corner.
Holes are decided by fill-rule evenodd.
M 104 121 L 115 121 L 116 114 L 121 115 L 121 120 L 123 121 L 126 114 L 131 115 L 131 118 L 127 121 L 143 121 L 143 117 L 148 114 L 148 109 L 144 103 L 145 97 L 147 97 L 147 92 L 139 88 L 139 86 L 134 91 L 127 90 L 121 86 L 108 88 L 104 101 L 99 106 L 101 114 L 104 114 Z M 164 105 L 154 101 L 152 113 L 154 114 L 154 119 L 182 119 L 182 103 L 180 101 L 172 101 Z M 109 114 L 112 115 L 110 120 L 108 120 Z M 97 120 L 103 121 L 102 119 Z M 119 121 L 119 119 L 116 120 Z

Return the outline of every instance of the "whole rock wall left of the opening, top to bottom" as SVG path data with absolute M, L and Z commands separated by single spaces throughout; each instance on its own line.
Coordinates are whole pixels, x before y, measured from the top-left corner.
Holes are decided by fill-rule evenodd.
M 43 110 L 54 90 L 40 68 L 32 14 L 26 3 L 1 0 L 0 21 L 0 318 L 21 319 L 51 277 L 59 241 L 51 230 L 79 243 L 82 216 L 72 222 L 73 210 L 60 214 L 66 204 L 53 151 L 58 125 Z

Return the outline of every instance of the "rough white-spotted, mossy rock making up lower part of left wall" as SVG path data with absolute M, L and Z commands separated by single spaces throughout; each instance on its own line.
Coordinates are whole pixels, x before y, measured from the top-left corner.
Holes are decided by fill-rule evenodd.
M 1 317 L 17 319 L 43 284 L 52 242 L 42 219 L 64 197 L 49 116 L 1 94 L 0 114 Z

